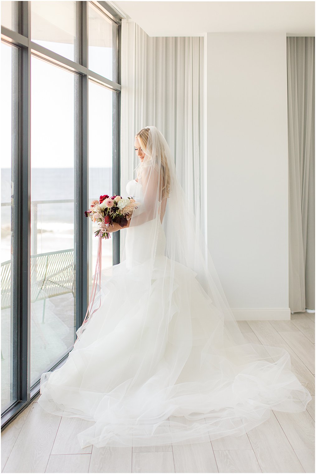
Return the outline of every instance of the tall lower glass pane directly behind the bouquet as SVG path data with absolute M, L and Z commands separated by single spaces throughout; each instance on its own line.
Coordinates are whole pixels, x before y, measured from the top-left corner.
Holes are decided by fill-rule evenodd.
M 112 100 L 109 89 L 89 81 L 89 200 L 99 199 L 100 195 L 113 195 L 112 189 Z M 88 218 L 89 219 L 89 218 Z M 96 270 L 98 237 L 96 223 L 89 219 L 89 295 L 92 290 L 93 275 Z M 111 238 L 102 241 L 102 268 L 113 264 Z

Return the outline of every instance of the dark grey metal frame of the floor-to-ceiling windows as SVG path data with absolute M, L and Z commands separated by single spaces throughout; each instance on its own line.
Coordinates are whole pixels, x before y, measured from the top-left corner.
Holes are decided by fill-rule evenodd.
M 88 81 L 113 91 L 113 192 L 120 194 L 120 108 L 121 108 L 121 24 L 122 17 L 106 1 L 76 1 L 76 38 L 71 61 L 31 41 L 31 2 L 18 1 L 18 33 L 1 25 L 1 41 L 18 47 L 18 155 L 14 168 L 14 240 L 13 240 L 13 319 L 17 322 L 17 401 L 1 413 L 1 431 L 25 410 L 38 395 L 40 380 L 30 384 L 31 318 L 31 55 L 77 74 L 75 81 L 75 160 L 74 160 L 74 232 L 75 239 L 75 319 L 81 326 L 88 307 Z M 93 4 L 117 26 L 117 44 L 113 62 L 118 82 L 88 69 L 88 5 Z M 116 46 L 116 47 L 115 47 Z M 120 262 L 120 233 L 113 234 L 113 264 Z M 76 269 L 79 268 L 79 272 Z M 73 346 L 70 348 L 72 350 Z M 49 370 L 61 366 L 70 350 Z

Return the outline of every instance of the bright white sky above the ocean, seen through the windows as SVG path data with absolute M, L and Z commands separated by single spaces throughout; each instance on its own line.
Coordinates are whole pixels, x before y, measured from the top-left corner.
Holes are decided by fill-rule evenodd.
M 36 42 L 66 57 L 73 56 L 73 45 Z M 11 47 L 1 43 L 1 168 L 11 167 Z M 89 58 L 95 69 L 100 64 L 97 73 L 112 78 L 111 48 L 89 46 Z M 31 57 L 31 167 L 73 167 L 74 76 Z M 88 94 L 89 167 L 112 167 L 113 92 L 89 81 Z

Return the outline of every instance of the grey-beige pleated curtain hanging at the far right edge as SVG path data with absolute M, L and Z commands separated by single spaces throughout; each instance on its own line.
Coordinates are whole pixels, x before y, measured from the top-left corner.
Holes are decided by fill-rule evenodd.
M 315 310 L 315 37 L 287 37 L 289 305 Z

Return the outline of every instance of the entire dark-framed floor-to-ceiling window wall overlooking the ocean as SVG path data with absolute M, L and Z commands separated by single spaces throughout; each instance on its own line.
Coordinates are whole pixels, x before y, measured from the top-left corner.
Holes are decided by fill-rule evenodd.
M 120 191 L 120 28 L 104 1 L 1 2 L 1 427 L 86 314 L 84 211 Z M 103 268 L 119 262 L 119 232 L 102 250 Z

